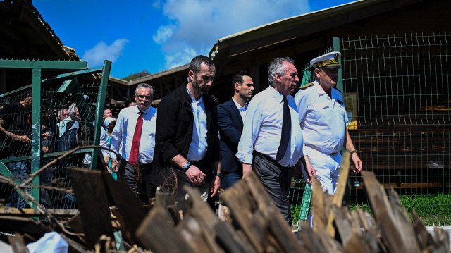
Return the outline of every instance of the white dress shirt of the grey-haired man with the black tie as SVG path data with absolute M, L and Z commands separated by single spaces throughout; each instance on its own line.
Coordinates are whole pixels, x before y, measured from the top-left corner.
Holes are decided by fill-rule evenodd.
M 279 164 L 284 167 L 295 166 L 302 153 L 302 132 L 299 126 L 295 100 L 286 97 L 291 116 L 290 143 Z M 247 108 L 245 125 L 238 144 L 237 158 L 242 163 L 252 163 L 253 150 L 276 159 L 283 123 L 283 95 L 269 86 L 255 95 Z

